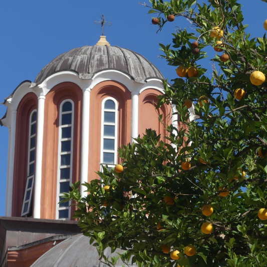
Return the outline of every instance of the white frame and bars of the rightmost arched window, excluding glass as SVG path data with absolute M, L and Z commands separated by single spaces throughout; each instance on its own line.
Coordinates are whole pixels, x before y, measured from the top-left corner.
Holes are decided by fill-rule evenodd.
M 112 100 L 115 103 L 114 109 L 105 109 L 105 103 L 107 100 Z M 102 101 L 101 107 L 101 149 L 100 149 L 100 170 L 102 171 L 102 165 L 107 165 L 109 168 L 113 168 L 117 164 L 117 151 L 118 151 L 118 102 L 113 97 L 106 97 Z M 104 113 L 107 112 L 115 112 L 115 123 L 104 122 Z M 115 126 L 115 136 L 104 136 L 104 125 Z M 114 150 L 105 150 L 104 149 L 104 139 L 113 139 L 114 142 Z M 114 153 L 114 164 L 103 163 L 104 152 Z

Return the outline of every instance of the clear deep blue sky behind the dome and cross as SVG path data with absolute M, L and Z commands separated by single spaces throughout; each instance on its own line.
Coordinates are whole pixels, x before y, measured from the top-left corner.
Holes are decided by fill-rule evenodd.
M 160 55 L 159 43 L 170 44 L 175 27 L 185 21 L 166 24 L 162 33 L 151 24 L 147 8 L 139 0 L 3 0 L 0 3 L 0 102 L 24 80 L 34 81 L 41 69 L 58 55 L 76 47 L 95 45 L 101 35 L 99 21 L 104 14 L 112 22 L 105 35 L 112 46 L 142 54 L 162 74 L 176 78 L 175 67 L 167 66 Z M 144 0 L 142 1 L 144 3 Z M 146 1 L 147 4 L 148 1 Z M 245 24 L 252 36 L 262 36 L 267 19 L 267 4 L 242 0 Z M 253 3 L 253 5 L 251 4 Z M 213 51 L 214 52 L 214 51 Z M 213 53 L 212 52 L 212 53 Z M 208 63 L 207 63 L 208 64 Z M 0 117 L 6 112 L 0 106 Z M 0 127 L 0 216 L 5 215 L 8 129 Z

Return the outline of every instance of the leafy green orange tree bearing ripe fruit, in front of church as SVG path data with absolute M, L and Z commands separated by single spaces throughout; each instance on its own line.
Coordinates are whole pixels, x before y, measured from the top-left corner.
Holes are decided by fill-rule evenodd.
M 150 2 L 160 30 L 177 17 L 190 22 L 161 45 L 178 76 L 163 81 L 158 100 L 187 127 L 166 126 L 166 143 L 147 130 L 119 149 L 123 170 L 104 167 L 86 198 L 77 183 L 66 201 L 76 201 L 80 227 L 110 266 L 117 258 L 106 247 L 138 266 L 267 266 L 265 35 L 245 33 L 237 0 Z

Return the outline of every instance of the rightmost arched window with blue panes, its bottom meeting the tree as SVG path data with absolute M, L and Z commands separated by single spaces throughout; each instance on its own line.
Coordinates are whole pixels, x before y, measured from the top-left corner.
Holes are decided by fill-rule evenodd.
M 117 164 L 118 102 L 107 97 L 102 102 L 101 164 L 112 168 Z

